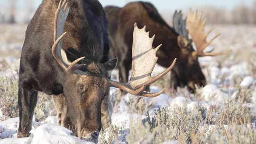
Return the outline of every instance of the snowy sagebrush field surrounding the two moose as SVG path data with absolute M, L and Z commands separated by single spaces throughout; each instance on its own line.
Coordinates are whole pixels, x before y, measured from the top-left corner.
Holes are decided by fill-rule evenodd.
M 51 96 L 39 94 L 33 130 L 18 139 L 18 66 L 26 25 L 0 25 L 0 144 L 91 144 L 56 126 Z M 110 90 L 112 126 L 99 144 L 255 144 L 256 26 L 214 25 L 222 35 L 209 49 L 232 50 L 200 58 L 208 85 L 190 94 L 185 88 L 149 99 Z M 153 75 L 163 71 L 156 66 Z M 112 77 L 116 78 L 116 71 Z M 151 91 L 169 87 L 169 77 Z

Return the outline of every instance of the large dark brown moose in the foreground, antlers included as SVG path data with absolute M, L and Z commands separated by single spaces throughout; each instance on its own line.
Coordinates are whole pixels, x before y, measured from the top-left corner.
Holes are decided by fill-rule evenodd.
M 101 125 L 104 128 L 104 123 L 111 121 L 107 110 L 110 87 L 144 97 L 163 93 L 148 93 L 145 87 L 170 72 L 175 60 L 163 73 L 151 77 L 160 46 L 154 49 L 154 37 L 136 24 L 132 78 L 128 83 L 110 80 L 109 71 L 115 68 L 117 59 L 108 58 L 107 28 L 107 17 L 98 0 L 42 1 L 27 27 L 22 48 L 18 137 L 30 135 L 38 91 L 54 95 L 61 126 L 95 143 Z

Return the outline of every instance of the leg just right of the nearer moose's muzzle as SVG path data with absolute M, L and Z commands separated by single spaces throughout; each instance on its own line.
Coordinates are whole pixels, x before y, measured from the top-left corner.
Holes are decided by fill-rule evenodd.
M 110 127 L 111 125 L 111 116 L 113 111 L 113 106 L 111 104 L 109 90 L 108 94 L 105 96 L 101 103 L 101 125 L 102 129 L 105 130 L 106 128 Z

